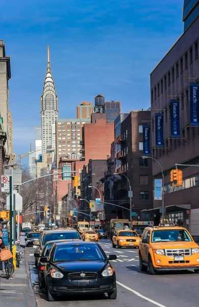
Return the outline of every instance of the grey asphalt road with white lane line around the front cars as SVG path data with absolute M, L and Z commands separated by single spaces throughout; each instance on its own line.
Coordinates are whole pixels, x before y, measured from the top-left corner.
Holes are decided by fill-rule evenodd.
M 56 302 L 48 302 L 45 295 L 36 293 L 38 307 L 196 307 L 198 306 L 199 274 L 192 271 L 172 272 L 151 276 L 139 270 L 137 249 L 113 249 L 109 239 L 99 243 L 106 254 L 116 254 L 117 260 L 111 261 L 115 268 L 118 295 L 116 300 L 104 296 L 75 296 L 58 298 Z M 26 250 L 31 269 L 31 281 L 38 280 L 34 267 L 34 250 Z M 36 286 L 37 288 L 37 286 Z M 38 292 L 35 290 L 35 292 Z

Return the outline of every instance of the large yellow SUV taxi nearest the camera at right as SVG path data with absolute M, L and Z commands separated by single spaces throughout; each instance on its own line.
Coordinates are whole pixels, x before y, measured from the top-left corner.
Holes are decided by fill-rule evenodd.
M 146 227 L 139 246 L 141 272 L 188 270 L 199 272 L 199 247 L 190 233 L 175 224 Z

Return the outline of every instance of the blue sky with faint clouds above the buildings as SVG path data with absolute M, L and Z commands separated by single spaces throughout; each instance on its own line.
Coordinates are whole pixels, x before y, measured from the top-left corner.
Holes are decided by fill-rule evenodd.
M 150 72 L 183 32 L 183 0 L 10 0 L 0 3 L 0 39 L 11 56 L 14 151 L 40 126 L 46 46 L 59 116 L 101 93 L 122 112 L 150 106 Z

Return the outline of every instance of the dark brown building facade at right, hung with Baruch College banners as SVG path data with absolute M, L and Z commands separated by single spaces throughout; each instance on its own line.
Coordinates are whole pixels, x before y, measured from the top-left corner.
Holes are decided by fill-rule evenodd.
M 199 127 L 190 123 L 190 83 L 198 83 L 199 80 L 198 28 L 197 14 L 194 22 L 151 73 L 152 154 L 164 172 L 166 220 L 189 228 L 193 235 L 199 235 L 198 167 L 178 166 L 183 171 L 183 186 L 179 187 L 172 186 L 170 171 L 175 169 L 176 163 L 199 164 Z M 171 96 L 180 100 L 179 138 L 171 137 Z M 156 148 L 155 113 L 163 114 L 163 148 Z M 158 163 L 153 163 L 153 176 L 154 179 L 162 178 Z M 161 201 L 154 201 L 153 212 L 160 220 L 159 207 Z

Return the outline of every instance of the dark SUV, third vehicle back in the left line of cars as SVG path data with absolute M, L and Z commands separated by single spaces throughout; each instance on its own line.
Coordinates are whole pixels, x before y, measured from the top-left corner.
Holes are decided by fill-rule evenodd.
M 43 252 L 43 248 L 48 241 L 55 240 L 82 240 L 79 232 L 75 229 L 62 229 L 62 230 L 48 230 L 43 231 L 39 242 L 35 242 L 34 246 L 36 246 L 35 253 L 39 253 L 40 255 Z M 35 266 L 37 267 L 38 257 L 35 257 Z

